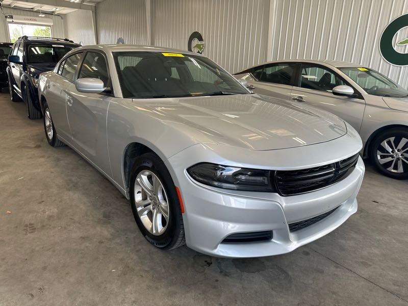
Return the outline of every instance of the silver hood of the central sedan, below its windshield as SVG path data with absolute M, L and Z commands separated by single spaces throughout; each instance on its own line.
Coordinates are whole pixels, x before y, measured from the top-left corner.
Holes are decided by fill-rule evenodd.
M 271 150 L 310 145 L 343 136 L 335 115 L 258 94 L 134 99 L 135 107 L 196 137 L 221 145 Z M 200 139 L 195 139 L 200 142 Z M 210 140 L 210 141 L 208 141 Z

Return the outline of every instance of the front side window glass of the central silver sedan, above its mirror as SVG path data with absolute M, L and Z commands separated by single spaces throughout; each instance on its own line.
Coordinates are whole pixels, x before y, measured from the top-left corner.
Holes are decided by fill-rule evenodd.
M 82 63 L 78 79 L 95 78 L 102 80 L 105 87 L 109 86 L 109 73 L 105 57 L 100 53 L 88 52 Z

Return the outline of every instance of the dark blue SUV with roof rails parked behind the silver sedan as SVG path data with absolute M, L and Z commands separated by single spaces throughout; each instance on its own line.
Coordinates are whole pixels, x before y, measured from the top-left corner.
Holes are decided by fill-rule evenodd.
M 22 36 L 14 43 L 7 74 L 12 101 L 24 101 L 30 119 L 41 118 L 38 101 L 38 76 L 53 70 L 70 50 L 81 45 L 62 38 Z

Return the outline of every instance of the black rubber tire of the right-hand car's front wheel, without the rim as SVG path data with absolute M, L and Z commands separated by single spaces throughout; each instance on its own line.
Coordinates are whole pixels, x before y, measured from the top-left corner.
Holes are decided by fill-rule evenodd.
M 384 141 L 385 139 L 391 138 L 391 137 L 401 137 L 401 136 L 408 139 L 408 130 L 393 129 L 393 130 L 381 133 L 377 138 L 375 138 L 375 140 L 373 141 L 373 144 L 371 145 L 370 158 L 373 164 L 375 165 L 376 169 L 380 173 L 386 176 L 392 177 L 393 179 L 407 180 L 408 172 L 403 172 L 403 173 L 391 172 L 385 169 L 384 167 L 382 167 L 382 165 L 379 163 L 377 159 L 377 148 L 379 147 L 382 141 Z M 407 152 L 407 155 L 408 155 L 408 152 Z

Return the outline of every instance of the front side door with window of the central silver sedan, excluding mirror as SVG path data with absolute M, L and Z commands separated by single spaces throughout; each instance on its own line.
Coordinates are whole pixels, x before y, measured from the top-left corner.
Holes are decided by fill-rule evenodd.
M 104 81 L 103 93 L 79 92 L 70 86 L 66 105 L 68 122 L 74 146 L 90 161 L 110 175 L 111 168 L 107 147 L 107 113 L 113 97 L 106 57 L 103 53 L 88 51 L 80 63 L 75 79 L 96 78 Z

